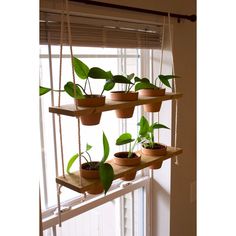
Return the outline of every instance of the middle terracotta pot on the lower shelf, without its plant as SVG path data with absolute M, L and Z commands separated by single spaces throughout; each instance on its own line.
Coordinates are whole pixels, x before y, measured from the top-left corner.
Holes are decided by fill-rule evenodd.
M 141 157 L 135 153 L 132 154 L 131 158 L 127 158 L 128 152 L 117 152 L 114 154 L 113 162 L 119 166 L 137 166 L 141 163 Z M 133 180 L 136 176 L 136 171 L 130 172 L 124 175 L 121 179 L 125 181 Z

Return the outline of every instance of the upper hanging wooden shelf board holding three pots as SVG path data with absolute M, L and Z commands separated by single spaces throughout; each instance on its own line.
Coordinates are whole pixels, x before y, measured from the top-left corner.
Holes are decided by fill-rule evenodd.
M 130 102 L 118 102 L 118 101 L 111 101 L 110 99 L 106 99 L 106 104 L 100 107 L 76 107 L 74 104 L 69 105 L 62 105 L 60 107 L 54 106 L 49 107 L 49 112 L 66 115 L 66 116 L 84 116 L 89 115 L 92 113 L 103 112 L 103 111 L 111 111 L 116 109 L 128 108 L 132 106 L 139 106 L 143 104 L 151 104 L 161 101 L 173 100 L 182 97 L 181 93 L 166 93 L 164 96 L 160 97 L 142 97 L 139 96 L 137 101 L 130 101 Z

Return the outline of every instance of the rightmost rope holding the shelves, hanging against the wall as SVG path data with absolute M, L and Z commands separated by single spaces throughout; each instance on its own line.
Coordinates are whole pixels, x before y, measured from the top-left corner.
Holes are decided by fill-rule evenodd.
M 175 75 L 175 67 L 174 67 L 174 57 L 173 57 L 173 42 L 172 42 L 172 34 L 171 34 L 171 24 L 170 24 L 170 13 L 168 13 L 168 24 L 169 24 L 169 35 L 170 35 L 170 49 L 171 49 L 171 58 L 172 58 L 172 73 Z M 176 93 L 176 80 L 173 79 L 173 92 Z M 175 99 L 175 133 L 174 133 L 174 147 L 177 147 L 177 131 L 178 131 L 178 100 Z M 178 156 L 175 157 L 175 164 L 179 164 Z

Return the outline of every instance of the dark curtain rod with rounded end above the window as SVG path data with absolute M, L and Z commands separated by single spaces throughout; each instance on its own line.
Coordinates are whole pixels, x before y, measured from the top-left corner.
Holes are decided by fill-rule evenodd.
M 91 0 L 70 0 L 70 2 L 79 2 L 79 3 L 88 4 L 88 5 L 100 6 L 100 7 L 110 7 L 114 9 L 142 12 L 142 13 L 148 13 L 148 14 L 154 14 L 154 15 L 160 15 L 160 16 L 168 16 L 168 12 L 154 11 L 154 10 L 142 9 L 142 8 L 137 8 L 137 7 L 129 7 L 129 6 L 123 6 L 123 5 L 117 5 L 117 4 L 105 3 L 105 2 L 97 2 L 97 1 L 91 1 Z M 195 22 L 197 20 L 196 15 L 181 15 L 181 14 L 170 13 L 170 16 L 177 18 L 178 21 L 180 19 L 187 19 L 192 22 Z

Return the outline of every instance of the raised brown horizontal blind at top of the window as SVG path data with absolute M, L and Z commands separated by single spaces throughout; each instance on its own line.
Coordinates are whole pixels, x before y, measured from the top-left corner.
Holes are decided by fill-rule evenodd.
M 70 16 L 73 46 L 108 48 L 161 48 L 162 26 Z M 40 12 L 40 44 L 60 44 L 61 14 Z M 68 28 L 64 15 L 64 45 L 68 45 Z

